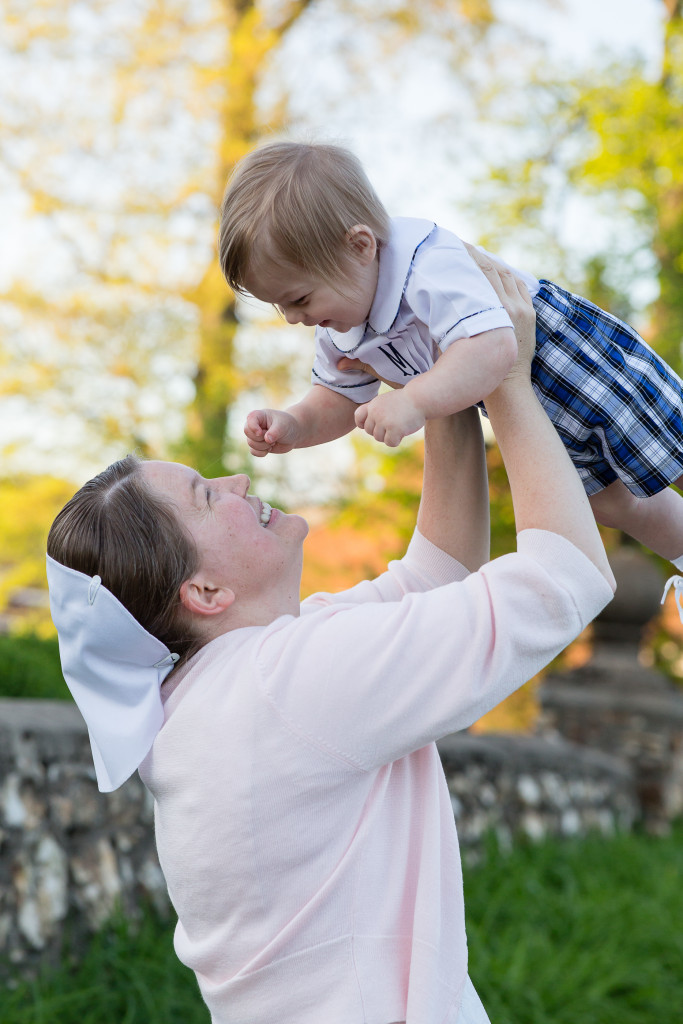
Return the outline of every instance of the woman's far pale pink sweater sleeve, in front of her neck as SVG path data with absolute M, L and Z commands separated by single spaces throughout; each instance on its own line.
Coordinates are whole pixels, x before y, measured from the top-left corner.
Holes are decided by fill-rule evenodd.
M 311 594 L 301 604 L 301 613 L 333 604 L 361 604 L 366 601 L 399 601 L 414 591 L 443 587 L 456 580 L 464 580 L 468 569 L 452 558 L 416 529 L 402 558 L 389 562 L 386 572 L 376 580 L 364 580 L 349 590 L 336 594 Z

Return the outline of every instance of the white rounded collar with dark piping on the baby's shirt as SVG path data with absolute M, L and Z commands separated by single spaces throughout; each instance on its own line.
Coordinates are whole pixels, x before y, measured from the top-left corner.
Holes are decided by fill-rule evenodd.
M 329 331 L 335 348 L 342 352 L 352 351 L 360 344 L 369 329 L 374 334 L 387 333 L 398 315 L 413 257 L 435 226 L 433 220 L 414 217 L 392 219 L 389 241 L 379 252 L 377 291 L 368 323 L 359 324 L 358 327 L 353 327 L 342 334 L 338 331 Z

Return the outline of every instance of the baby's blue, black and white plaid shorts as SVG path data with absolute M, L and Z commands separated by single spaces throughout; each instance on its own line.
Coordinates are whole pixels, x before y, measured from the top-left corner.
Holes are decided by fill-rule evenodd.
M 683 381 L 627 324 L 541 282 L 531 382 L 594 495 L 646 498 L 683 476 Z

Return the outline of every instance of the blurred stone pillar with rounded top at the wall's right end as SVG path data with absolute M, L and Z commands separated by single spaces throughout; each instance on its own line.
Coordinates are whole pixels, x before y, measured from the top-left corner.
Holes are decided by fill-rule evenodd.
M 645 626 L 660 610 L 665 581 L 636 547 L 617 549 L 610 563 L 616 595 L 594 623 L 592 657 L 546 677 L 540 731 L 629 762 L 641 821 L 663 833 L 683 814 L 683 691 L 641 665 L 638 652 Z

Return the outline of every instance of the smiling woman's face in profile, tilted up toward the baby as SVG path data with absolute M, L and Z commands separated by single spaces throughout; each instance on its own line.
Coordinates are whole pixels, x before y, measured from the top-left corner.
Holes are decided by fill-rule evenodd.
M 174 462 L 145 462 L 141 472 L 175 504 L 200 567 L 215 587 L 268 602 L 287 594 L 298 604 L 305 519 L 279 509 L 268 518 L 268 506 L 248 493 L 244 473 L 207 480 Z

